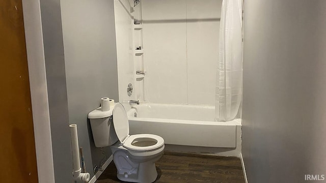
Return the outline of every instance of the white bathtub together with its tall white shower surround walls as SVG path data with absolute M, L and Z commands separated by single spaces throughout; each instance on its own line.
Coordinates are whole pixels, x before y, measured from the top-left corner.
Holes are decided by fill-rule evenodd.
M 119 101 L 130 134 L 160 135 L 171 150 L 239 157 L 241 120 L 214 120 L 222 1 L 114 3 Z M 129 100 L 141 104 L 130 106 Z

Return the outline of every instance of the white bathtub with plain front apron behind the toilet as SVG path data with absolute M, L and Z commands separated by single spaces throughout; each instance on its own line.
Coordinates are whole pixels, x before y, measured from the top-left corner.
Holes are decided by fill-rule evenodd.
M 173 145 L 235 148 L 241 120 L 214 121 L 214 110 L 196 105 L 131 105 L 127 111 L 130 135 L 155 134 Z

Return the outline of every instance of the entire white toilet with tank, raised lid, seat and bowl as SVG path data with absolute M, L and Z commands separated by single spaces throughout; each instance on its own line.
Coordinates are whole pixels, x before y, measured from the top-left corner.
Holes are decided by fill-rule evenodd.
M 126 110 L 121 103 L 113 109 L 97 108 L 88 114 L 96 147 L 111 147 L 117 176 L 128 182 L 153 182 L 155 162 L 163 155 L 164 139 L 152 134 L 129 135 Z M 113 122 L 113 123 L 112 123 Z

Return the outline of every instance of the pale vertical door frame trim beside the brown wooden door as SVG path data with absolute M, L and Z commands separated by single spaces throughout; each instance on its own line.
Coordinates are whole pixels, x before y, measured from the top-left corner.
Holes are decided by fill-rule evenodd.
M 55 182 L 40 1 L 22 1 L 39 182 Z

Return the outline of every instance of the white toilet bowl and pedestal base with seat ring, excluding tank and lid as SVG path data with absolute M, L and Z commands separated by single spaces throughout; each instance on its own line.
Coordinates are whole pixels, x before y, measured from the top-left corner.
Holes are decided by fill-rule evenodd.
M 147 146 L 147 143 L 155 144 Z M 117 177 L 120 180 L 155 181 L 157 177 L 155 162 L 163 155 L 164 150 L 164 140 L 161 137 L 151 134 L 131 135 L 127 137 L 123 145 L 118 141 L 110 147 L 117 167 Z

